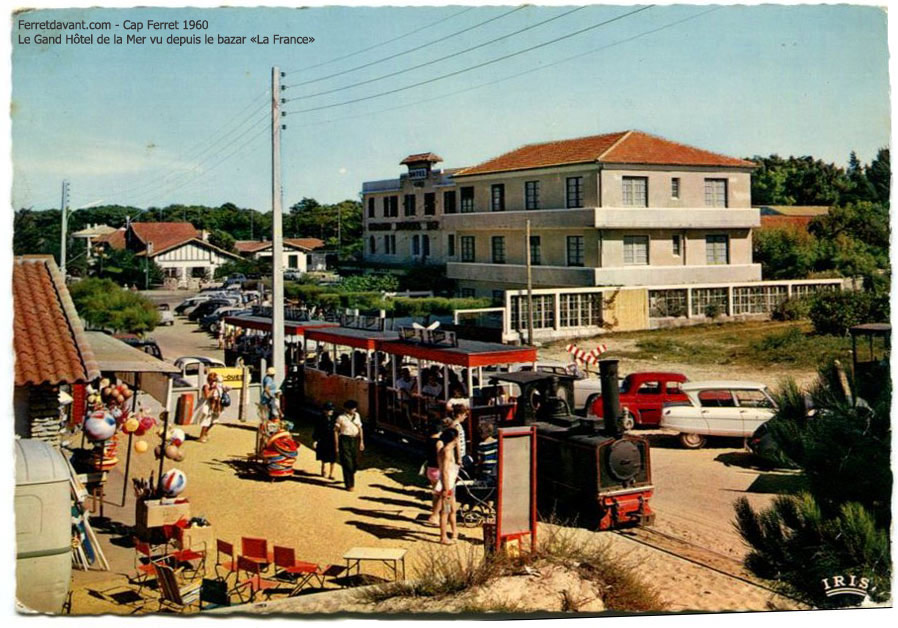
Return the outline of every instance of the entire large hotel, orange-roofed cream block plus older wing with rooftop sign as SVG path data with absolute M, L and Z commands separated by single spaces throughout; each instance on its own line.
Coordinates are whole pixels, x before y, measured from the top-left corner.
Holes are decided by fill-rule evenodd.
M 535 288 L 761 279 L 750 161 L 640 131 L 530 144 L 459 170 L 439 161 L 411 155 L 398 179 L 363 184 L 366 261 L 445 263 L 462 296 L 497 300 L 526 285 L 525 247 Z

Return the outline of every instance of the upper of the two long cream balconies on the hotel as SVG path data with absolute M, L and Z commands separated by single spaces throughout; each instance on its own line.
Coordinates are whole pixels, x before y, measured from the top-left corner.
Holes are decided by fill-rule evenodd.
M 751 207 L 589 207 L 444 214 L 448 231 L 523 229 L 750 229 L 761 224 Z

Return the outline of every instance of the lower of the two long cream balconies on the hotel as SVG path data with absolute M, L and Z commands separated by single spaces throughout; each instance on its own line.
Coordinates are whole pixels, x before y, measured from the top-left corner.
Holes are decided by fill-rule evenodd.
M 701 266 L 614 266 L 578 268 L 568 266 L 532 266 L 533 286 L 655 286 L 690 283 L 733 283 L 760 281 L 760 264 L 719 264 Z M 449 262 L 450 279 L 489 281 L 492 283 L 527 283 L 527 267 L 519 264 L 483 264 Z

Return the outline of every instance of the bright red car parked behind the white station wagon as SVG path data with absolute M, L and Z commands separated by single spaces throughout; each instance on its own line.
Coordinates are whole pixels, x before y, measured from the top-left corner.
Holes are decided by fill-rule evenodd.
M 680 390 L 680 385 L 686 379 L 682 373 L 655 371 L 627 375 L 620 386 L 624 429 L 631 429 L 635 425 L 657 427 L 661 423 L 661 410 L 665 403 L 688 403 L 689 398 Z M 595 397 L 591 409 L 595 416 L 602 416 L 601 395 Z

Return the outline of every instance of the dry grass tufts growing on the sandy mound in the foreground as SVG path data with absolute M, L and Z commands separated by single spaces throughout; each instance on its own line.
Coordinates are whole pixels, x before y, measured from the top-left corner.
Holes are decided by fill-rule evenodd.
M 494 578 L 528 573 L 532 571 L 531 567 L 561 565 L 596 585 L 607 610 L 648 612 L 665 608 L 658 590 L 645 582 L 632 565 L 612 556 L 607 542 L 594 534 L 541 524 L 539 535 L 535 553 L 514 557 L 503 553 L 483 557 L 481 550 L 472 546 L 455 553 L 428 549 L 419 556 L 411 580 L 370 587 L 360 591 L 359 595 L 363 602 L 371 604 L 397 597 L 457 598 Z M 566 612 L 577 612 L 586 601 L 577 599 L 569 591 L 559 591 L 558 595 L 561 609 Z M 507 600 L 463 600 L 461 611 L 520 613 L 524 607 Z

